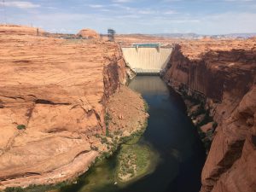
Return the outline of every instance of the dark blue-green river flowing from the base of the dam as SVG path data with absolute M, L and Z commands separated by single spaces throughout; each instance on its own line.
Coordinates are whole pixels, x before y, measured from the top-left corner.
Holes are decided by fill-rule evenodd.
M 181 96 L 159 76 L 137 76 L 129 87 L 148 102 L 148 128 L 139 143 L 158 154 L 154 170 L 123 187 L 114 185 L 117 154 L 96 165 L 63 192 L 199 192 L 206 154 Z

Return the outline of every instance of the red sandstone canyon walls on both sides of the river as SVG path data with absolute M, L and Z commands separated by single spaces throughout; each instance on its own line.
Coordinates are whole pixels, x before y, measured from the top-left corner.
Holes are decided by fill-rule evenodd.
M 161 41 L 172 54 L 160 77 L 207 150 L 201 192 L 255 192 L 256 38 Z M 125 86 L 134 73 L 120 44 L 89 29 L 63 38 L 4 25 L 0 45 L 0 190 L 74 182 L 144 131 L 147 105 Z

